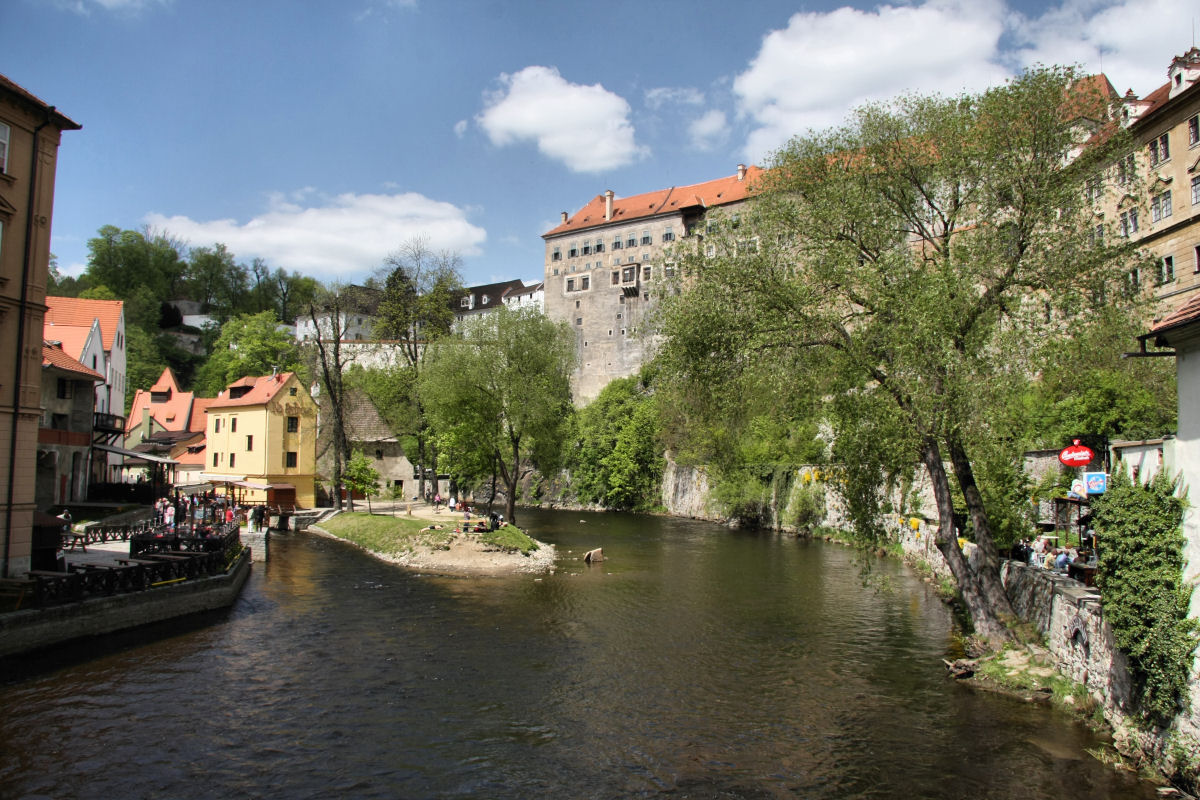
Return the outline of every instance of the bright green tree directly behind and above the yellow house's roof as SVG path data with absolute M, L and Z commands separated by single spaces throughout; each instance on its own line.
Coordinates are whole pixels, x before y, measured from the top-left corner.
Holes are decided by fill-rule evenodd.
M 221 326 L 221 335 L 209 360 L 196 377 L 196 391 L 215 397 L 226 386 L 246 375 L 300 369 L 295 338 L 280 330 L 275 313 L 234 317 Z

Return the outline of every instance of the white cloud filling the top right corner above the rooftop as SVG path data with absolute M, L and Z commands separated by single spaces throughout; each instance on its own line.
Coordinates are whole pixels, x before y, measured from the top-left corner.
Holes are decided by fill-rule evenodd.
M 1013 17 L 1019 66 L 1080 65 L 1117 91 L 1146 95 L 1166 83 L 1171 59 L 1192 46 L 1195 8 L 1177 0 L 1066 0 L 1040 17 Z

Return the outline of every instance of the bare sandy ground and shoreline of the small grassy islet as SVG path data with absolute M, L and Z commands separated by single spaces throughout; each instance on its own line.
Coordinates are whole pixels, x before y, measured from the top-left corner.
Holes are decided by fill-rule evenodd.
M 408 513 L 409 509 L 412 513 Z M 355 511 L 366 511 L 365 503 L 356 503 Z M 373 504 L 376 513 L 391 513 L 391 505 Z M 395 507 L 397 518 L 409 517 L 422 519 L 432 524 L 445 525 L 448 530 L 454 530 L 455 525 L 463 522 L 462 513 L 450 513 L 445 509 L 434 511 L 432 505 L 425 503 L 397 503 Z M 472 517 L 474 522 L 478 517 Z M 322 530 L 318 525 L 310 525 L 308 530 L 330 539 L 341 539 L 329 531 Z M 346 541 L 346 540 L 341 540 Z M 353 543 L 353 542 L 350 542 Z M 449 549 L 436 549 L 432 547 L 419 547 L 408 553 L 396 555 L 376 553 L 367 551 L 376 558 L 396 564 L 419 572 L 433 572 L 438 575 L 473 575 L 484 577 L 500 577 L 517 573 L 541 573 L 552 572 L 554 569 L 554 546 L 538 542 L 538 549 L 522 555 L 490 547 L 479 540 L 474 533 L 452 534 Z

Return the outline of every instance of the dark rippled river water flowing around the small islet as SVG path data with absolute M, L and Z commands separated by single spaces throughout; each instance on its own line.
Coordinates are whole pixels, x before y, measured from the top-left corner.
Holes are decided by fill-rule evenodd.
M 0 798 L 1154 796 L 1064 716 L 948 680 L 950 616 L 894 563 L 864 585 L 823 542 L 521 522 L 554 575 L 288 534 L 228 612 L 4 664 Z

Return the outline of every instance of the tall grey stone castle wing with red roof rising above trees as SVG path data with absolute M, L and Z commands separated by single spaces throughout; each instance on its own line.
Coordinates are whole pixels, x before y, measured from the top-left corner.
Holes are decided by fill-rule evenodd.
M 610 190 L 542 234 L 546 314 L 576 333 L 576 403 L 641 369 L 654 345 L 643 323 L 672 277 L 672 247 L 713 209 L 736 213 L 761 173 L 738 164 L 734 175 L 692 186 L 626 198 Z

